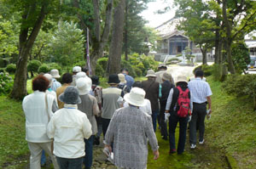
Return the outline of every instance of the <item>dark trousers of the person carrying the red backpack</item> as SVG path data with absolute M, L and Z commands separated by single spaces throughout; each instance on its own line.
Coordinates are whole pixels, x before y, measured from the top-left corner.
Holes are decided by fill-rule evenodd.
M 177 144 L 177 154 L 182 154 L 184 152 L 186 144 L 186 131 L 188 125 L 188 117 L 179 117 L 174 113 L 171 113 L 169 117 L 169 143 L 170 150 L 176 149 L 175 145 L 175 130 L 177 127 L 177 122 L 179 122 L 179 137 Z

